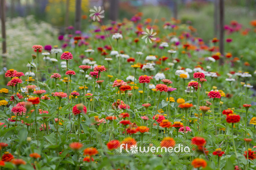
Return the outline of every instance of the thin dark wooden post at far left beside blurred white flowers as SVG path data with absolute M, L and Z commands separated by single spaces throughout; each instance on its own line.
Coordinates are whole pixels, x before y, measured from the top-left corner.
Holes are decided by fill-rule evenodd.
M 5 28 L 5 0 L 0 0 L 1 33 L 2 33 L 2 68 L 7 66 L 6 28 Z M 6 78 L 4 78 L 6 80 Z

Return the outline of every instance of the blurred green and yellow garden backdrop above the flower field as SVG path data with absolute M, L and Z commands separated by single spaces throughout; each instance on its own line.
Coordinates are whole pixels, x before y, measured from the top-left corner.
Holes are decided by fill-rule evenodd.
M 103 22 L 130 19 L 138 12 L 143 13 L 142 20 L 154 19 L 158 14 L 158 19 L 170 20 L 175 17 L 183 23 L 189 22 L 200 33 L 200 37 L 207 41 L 215 34 L 214 17 L 218 15 L 218 12 L 215 14 L 215 1 L 218 0 L 81 0 L 81 22 L 86 24 L 83 20 L 88 20 L 89 8 L 94 6 L 104 7 Z M 225 24 L 236 20 L 246 27 L 250 20 L 256 18 L 256 0 L 224 1 Z M 6 16 L 11 19 L 33 15 L 35 21 L 45 21 L 63 31 L 65 26 L 74 26 L 75 2 L 76 0 L 6 0 Z M 118 12 L 112 10 L 111 6 L 117 6 Z

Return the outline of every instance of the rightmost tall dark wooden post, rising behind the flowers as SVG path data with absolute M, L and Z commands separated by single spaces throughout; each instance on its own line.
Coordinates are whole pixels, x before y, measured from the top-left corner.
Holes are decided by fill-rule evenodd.
M 220 52 L 224 55 L 224 0 L 220 0 Z M 220 64 L 223 59 L 220 59 Z

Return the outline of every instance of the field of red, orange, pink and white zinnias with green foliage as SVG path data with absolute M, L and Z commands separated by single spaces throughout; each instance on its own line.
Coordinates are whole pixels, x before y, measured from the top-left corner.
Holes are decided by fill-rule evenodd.
M 225 26 L 221 54 L 141 15 L 23 46 L 0 89 L 1 170 L 256 169 L 254 28 Z

